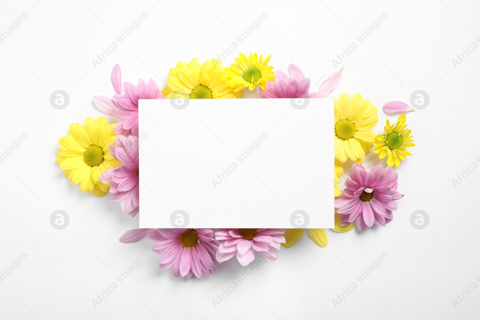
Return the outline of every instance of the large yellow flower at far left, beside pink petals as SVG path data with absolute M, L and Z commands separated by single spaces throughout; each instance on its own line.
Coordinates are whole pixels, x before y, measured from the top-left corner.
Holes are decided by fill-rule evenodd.
M 82 192 L 93 192 L 103 197 L 110 187 L 100 181 L 102 172 L 109 168 L 121 166 L 108 151 L 110 144 L 115 144 L 113 128 L 107 119 L 87 118 L 84 125 L 72 123 L 68 136 L 59 139 L 61 149 L 57 150 L 55 161 L 64 169 L 63 174 L 74 184 L 80 183 Z

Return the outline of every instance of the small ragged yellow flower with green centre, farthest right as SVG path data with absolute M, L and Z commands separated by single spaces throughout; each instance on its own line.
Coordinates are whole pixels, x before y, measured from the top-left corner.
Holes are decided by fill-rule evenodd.
M 413 136 L 410 135 L 412 130 L 407 128 L 405 121 L 406 115 L 401 115 L 396 120 L 394 126 L 390 125 L 390 121 L 387 120 L 385 125 L 385 133 L 379 134 L 376 137 L 376 142 L 373 145 L 376 146 L 373 149 L 373 153 L 380 154 L 379 158 L 383 159 L 387 157 L 387 165 L 400 166 L 400 160 L 405 160 L 406 155 L 412 155 L 406 148 L 415 146 L 413 142 Z

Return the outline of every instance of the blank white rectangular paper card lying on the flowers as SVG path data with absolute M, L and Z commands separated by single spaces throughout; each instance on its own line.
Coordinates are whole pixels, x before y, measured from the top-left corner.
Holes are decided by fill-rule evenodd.
M 141 228 L 334 226 L 333 99 L 139 101 Z

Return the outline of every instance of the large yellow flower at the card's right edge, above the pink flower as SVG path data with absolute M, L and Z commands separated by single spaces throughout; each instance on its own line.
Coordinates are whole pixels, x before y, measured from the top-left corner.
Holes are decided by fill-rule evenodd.
M 378 122 L 378 109 L 360 94 L 343 93 L 335 99 L 335 159 L 348 158 L 363 163 L 376 134 L 370 130 Z

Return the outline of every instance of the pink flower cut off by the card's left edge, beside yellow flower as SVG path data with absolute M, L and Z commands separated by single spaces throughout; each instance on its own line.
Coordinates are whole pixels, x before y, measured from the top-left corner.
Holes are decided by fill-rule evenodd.
M 138 138 L 118 135 L 109 150 L 122 165 L 105 170 L 100 181 L 111 185 L 111 199 L 121 201 L 122 210 L 135 216 L 139 211 Z

